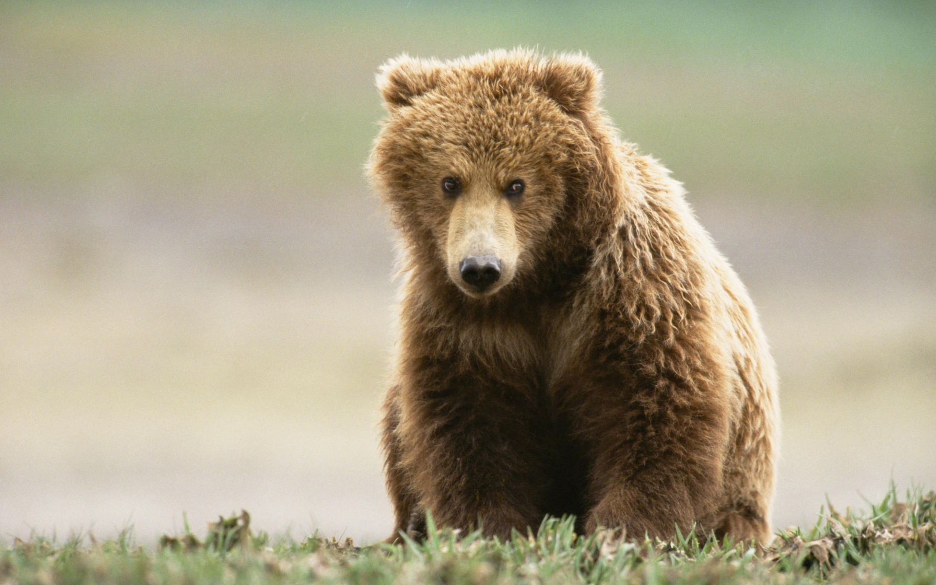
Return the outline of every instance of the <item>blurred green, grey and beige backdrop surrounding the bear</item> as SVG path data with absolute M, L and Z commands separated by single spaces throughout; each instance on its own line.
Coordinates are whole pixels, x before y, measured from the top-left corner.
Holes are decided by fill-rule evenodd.
M 936 488 L 931 2 L 0 3 L 0 539 L 391 529 L 402 51 L 585 51 L 779 363 L 779 527 Z

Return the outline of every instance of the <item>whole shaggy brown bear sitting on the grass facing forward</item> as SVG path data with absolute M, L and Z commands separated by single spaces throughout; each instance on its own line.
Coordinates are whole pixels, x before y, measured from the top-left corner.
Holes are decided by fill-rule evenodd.
M 680 183 L 582 55 L 393 59 L 368 173 L 399 234 L 383 419 L 394 536 L 546 515 L 770 537 L 776 375 Z

